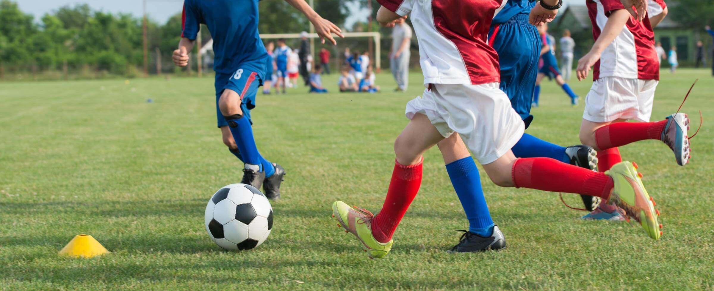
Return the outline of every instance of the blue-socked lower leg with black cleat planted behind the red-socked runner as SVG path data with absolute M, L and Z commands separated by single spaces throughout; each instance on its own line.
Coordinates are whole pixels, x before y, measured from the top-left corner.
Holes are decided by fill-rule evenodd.
M 468 230 L 451 252 L 476 252 L 506 247 L 503 233 L 498 230 L 491 219 L 491 213 L 488 212 L 476 163 L 473 162 L 461 137 L 457 133 L 452 134 L 437 146 L 446 163 L 451 185 L 468 219 Z

